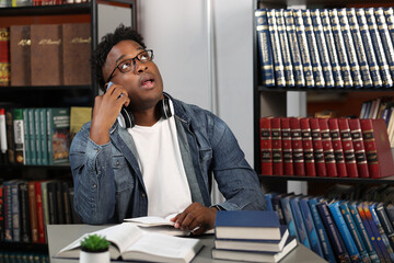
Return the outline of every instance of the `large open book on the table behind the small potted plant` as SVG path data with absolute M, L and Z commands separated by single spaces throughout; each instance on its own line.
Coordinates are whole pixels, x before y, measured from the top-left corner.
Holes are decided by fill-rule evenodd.
M 132 224 L 124 222 L 83 235 L 61 249 L 55 258 L 78 259 L 81 240 L 93 233 L 104 236 L 111 242 L 112 260 L 120 256 L 123 260 L 184 263 L 190 262 L 202 248 L 202 243 L 198 239 L 146 232 Z

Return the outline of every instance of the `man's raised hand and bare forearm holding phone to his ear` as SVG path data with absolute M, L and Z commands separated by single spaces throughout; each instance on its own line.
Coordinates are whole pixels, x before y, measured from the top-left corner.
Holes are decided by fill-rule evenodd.
M 130 99 L 127 91 L 117 84 L 112 84 L 103 95 L 94 100 L 90 138 L 97 145 L 109 142 L 109 129 L 114 125 L 121 106 L 128 106 Z

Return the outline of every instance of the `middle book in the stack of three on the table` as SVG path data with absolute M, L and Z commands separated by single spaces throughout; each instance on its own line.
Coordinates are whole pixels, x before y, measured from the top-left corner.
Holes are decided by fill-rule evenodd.
M 279 252 L 289 238 L 287 226 L 280 226 L 281 238 L 270 239 L 215 239 L 216 249 Z

